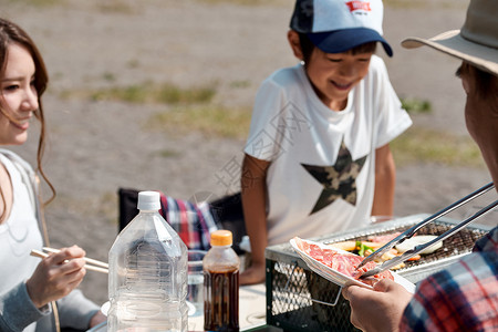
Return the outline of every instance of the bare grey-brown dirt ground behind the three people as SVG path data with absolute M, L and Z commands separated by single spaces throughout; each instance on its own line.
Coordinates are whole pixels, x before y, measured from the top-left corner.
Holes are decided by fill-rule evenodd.
M 149 131 L 145 122 L 164 106 L 65 98 L 63 92 L 147 81 L 186 87 L 212 83 L 216 103 L 250 106 L 266 76 L 297 62 L 286 40 L 293 1 L 34 2 L 0 0 L 0 15 L 31 34 L 51 74 L 44 168 L 58 189 L 46 209 L 53 247 L 77 243 L 89 257 L 106 260 L 117 234 L 120 187 L 184 199 L 236 189 L 219 178 L 241 160 L 243 139 Z M 392 83 L 400 96 L 428 100 L 434 108 L 414 116 L 415 124 L 466 135 L 464 93 L 454 77 L 458 61 L 430 50 L 403 50 L 400 42 L 459 29 L 468 1 L 388 3 L 384 32 L 395 56 L 385 61 Z M 35 135 L 31 138 L 15 151 L 33 162 Z M 485 168 L 423 162 L 400 167 L 395 215 L 434 212 L 488 181 Z M 102 303 L 106 284 L 106 276 L 89 271 L 82 289 Z

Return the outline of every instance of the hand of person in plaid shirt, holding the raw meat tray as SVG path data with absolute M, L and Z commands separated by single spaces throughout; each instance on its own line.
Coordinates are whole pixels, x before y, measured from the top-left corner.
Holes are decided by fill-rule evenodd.
M 362 331 L 398 331 L 403 311 L 412 299 L 406 289 L 383 279 L 374 290 L 360 286 L 342 289 L 342 295 L 350 301 L 351 323 Z

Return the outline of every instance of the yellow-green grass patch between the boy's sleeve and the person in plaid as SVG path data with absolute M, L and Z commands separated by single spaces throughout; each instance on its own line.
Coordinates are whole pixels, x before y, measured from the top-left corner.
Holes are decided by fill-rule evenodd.
M 468 136 L 411 127 L 391 143 L 397 165 L 416 162 L 484 167 L 479 148 Z

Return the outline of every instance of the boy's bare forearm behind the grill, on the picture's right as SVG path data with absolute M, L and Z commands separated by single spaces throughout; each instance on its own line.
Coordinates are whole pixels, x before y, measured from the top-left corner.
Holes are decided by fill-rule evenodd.
M 392 216 L 396 166 L 390 145 L 375 149 L 375 191 L 372 216 Z

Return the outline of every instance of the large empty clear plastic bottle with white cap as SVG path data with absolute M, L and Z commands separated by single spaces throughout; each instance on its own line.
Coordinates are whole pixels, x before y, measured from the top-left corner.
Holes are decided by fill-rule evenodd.
M 159 193 L 138 193 L 108 252 L 108 331 L 187 331 L 187 247 L 159 208 Z

